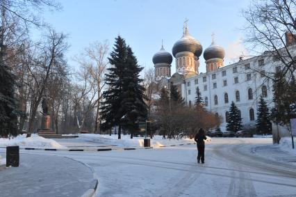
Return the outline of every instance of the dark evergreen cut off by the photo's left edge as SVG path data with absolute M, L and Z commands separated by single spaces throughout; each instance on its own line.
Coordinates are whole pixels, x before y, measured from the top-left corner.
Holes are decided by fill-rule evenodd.
M 1 43 L 3 40 L 1 39 Z M 8 65 L 3 61 L 5 54 L 0 44 L 0 136 L 17 136 L 17 100 L 15 98 L 15 75 L 11 72 Z

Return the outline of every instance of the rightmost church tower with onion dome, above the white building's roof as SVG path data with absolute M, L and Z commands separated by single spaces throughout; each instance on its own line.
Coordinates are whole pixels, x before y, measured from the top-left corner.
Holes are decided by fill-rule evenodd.
M 211 45 L 206 48 L 206 50 L 204 50 L 204 59 L 206 60 L 206 72 L 211 72 L 224 66 L 224 56 L 224 49 L 215 44 L 214 35 L 212 35 Z

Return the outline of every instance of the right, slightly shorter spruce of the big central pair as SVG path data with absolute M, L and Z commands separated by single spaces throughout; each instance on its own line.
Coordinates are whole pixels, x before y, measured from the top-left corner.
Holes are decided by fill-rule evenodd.
M 138 65 L 131 47 L 126 49 L 126 66 L 123 77 L 122 103 L 120 111 L 124 113 L 124 127 L 133 134 L 138 130 L 138 122 L 147 119 L 147 105 L 144 102 L 145 88 L 141 85 L 140 72 L 143 69 Z

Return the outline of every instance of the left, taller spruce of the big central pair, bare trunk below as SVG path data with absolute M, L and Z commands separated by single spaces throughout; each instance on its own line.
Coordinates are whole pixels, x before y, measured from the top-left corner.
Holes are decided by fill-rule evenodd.
M 105 79 L 108 89 L 102 94 L 101 118 L 104 123 L 101 126 L 104 129 L 110 129 L 110 127 L 118 125 L 118 139 L 121 139 L 124 111 L 120 108 L 120 104 L 122 103 L 123 79 L 126 72 L 126 42 L 120 36 L 115 38 L 113 52 L 108 60 L 111 67 L 107 69 L 108 73 L 106 73 Z

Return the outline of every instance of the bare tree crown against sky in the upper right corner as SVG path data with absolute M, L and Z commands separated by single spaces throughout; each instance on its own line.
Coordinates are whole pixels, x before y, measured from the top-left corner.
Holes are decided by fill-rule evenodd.
M 295 10 L 294 0 L 257 0 L 242 13 L 247 20 L 247 42 L 257 52 L 265 51 L 262 56 L 281 61 L 284 65 L 281 72 L 286 77 L 291 77 L 296 69 Z M 274 80 L 273 76 L 266 77 Z

